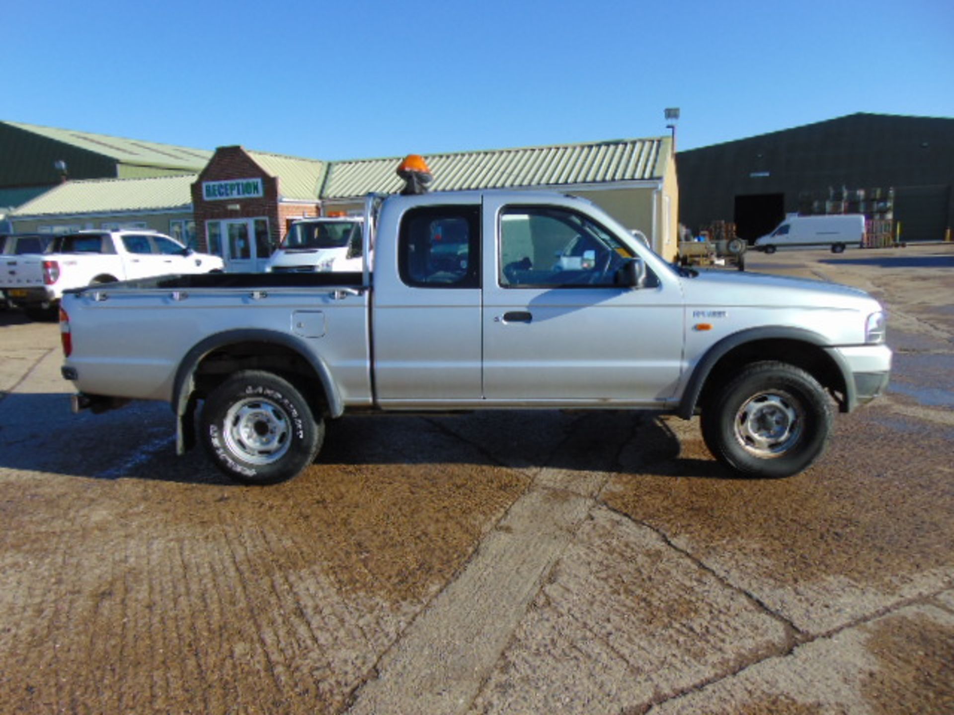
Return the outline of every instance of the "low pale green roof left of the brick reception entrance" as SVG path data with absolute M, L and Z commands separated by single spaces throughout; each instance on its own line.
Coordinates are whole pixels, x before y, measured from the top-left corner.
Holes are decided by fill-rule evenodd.
M 192 206 L 196 174 L 67 181 L 20 206 L 17 218 L 52 214 L 112 214 Z

